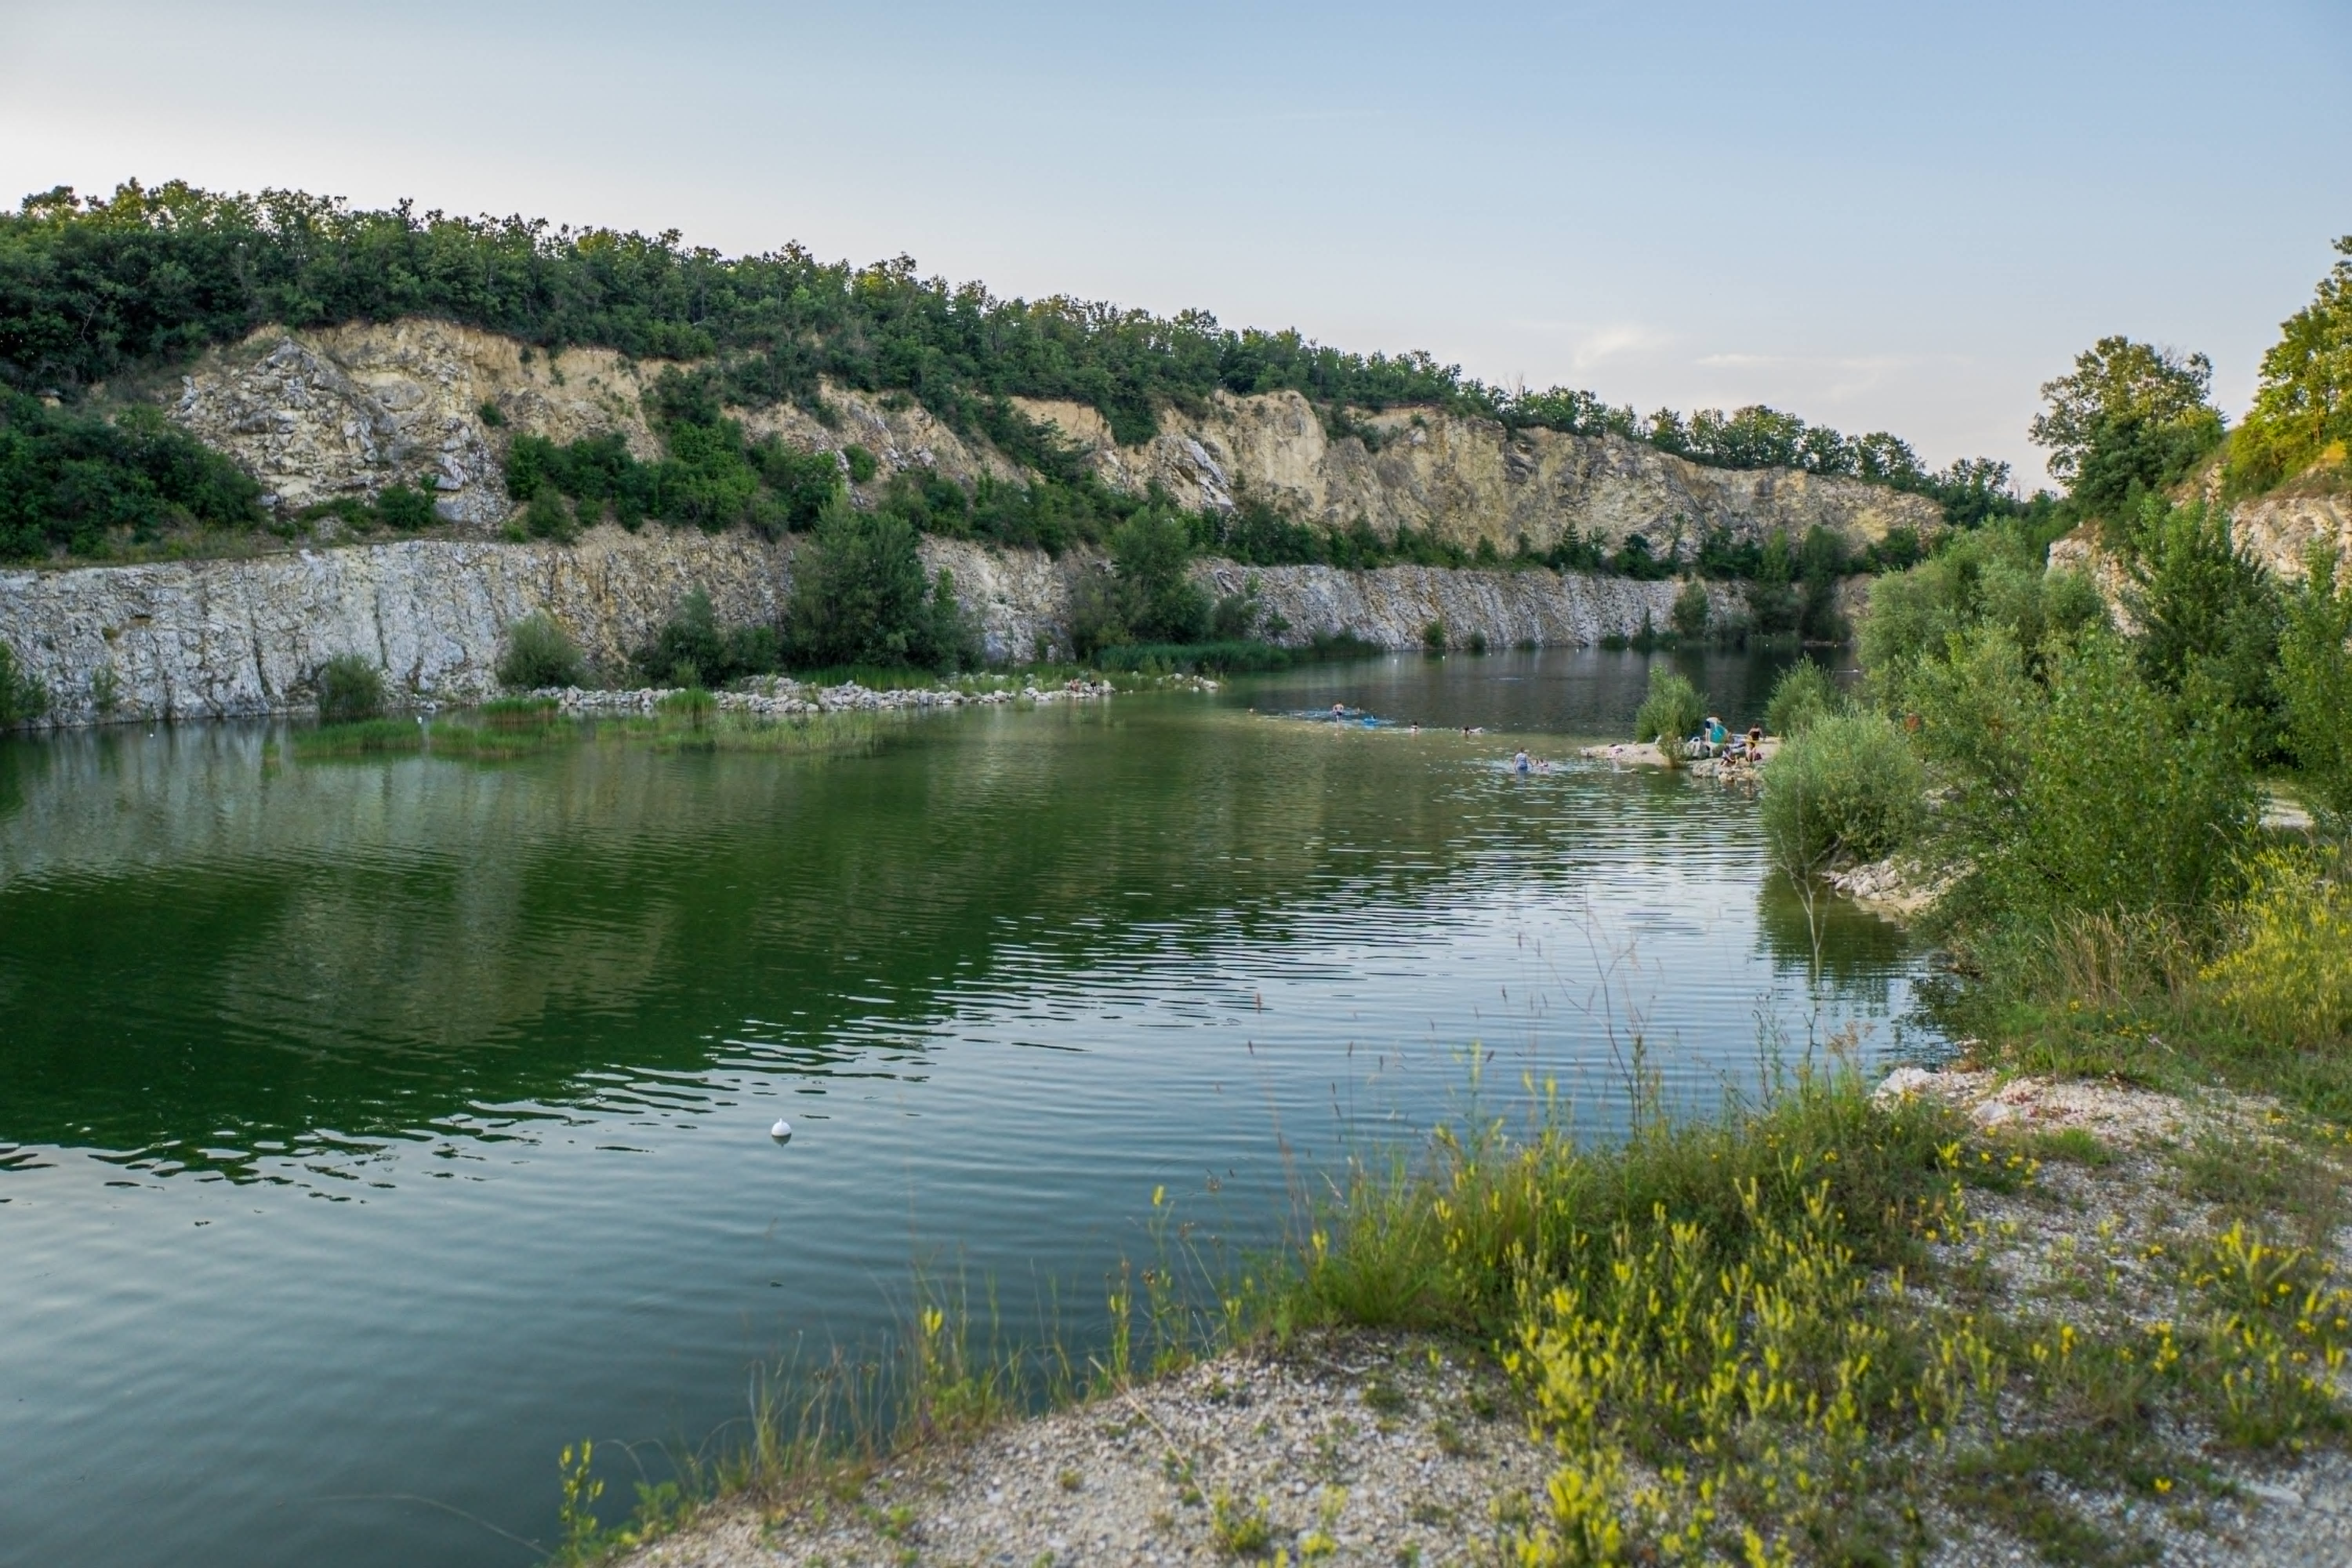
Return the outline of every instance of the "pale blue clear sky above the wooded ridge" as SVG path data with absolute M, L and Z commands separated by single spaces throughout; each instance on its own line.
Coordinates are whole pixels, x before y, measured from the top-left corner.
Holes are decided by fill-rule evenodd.
M 2352 0 L 0 0 L 0 197 L 129 176 L 903 252 L 2039 482 L 2100 334 L 2244 409 L 2352 233 Z

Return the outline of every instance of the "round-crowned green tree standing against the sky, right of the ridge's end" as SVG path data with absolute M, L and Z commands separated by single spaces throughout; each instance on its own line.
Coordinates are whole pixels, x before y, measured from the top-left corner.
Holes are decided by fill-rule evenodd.
M 2072 374 L 2042 383 L 2049 404 L 2027 425 L 2049 468 L 2091 517 L 2114 517 L 2145 491 L 2176 484 L 2223 435 L 2204 355 L 2100 339 Z

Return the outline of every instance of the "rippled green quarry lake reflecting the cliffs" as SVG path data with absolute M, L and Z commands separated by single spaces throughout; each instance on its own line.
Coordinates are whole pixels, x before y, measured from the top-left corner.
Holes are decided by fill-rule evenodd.
M 564 1443 L 616 1516 L 623 1443 L 663 1474 L 757 1368 L 887 1342 L 917 1269 L 1084 1356 L 1155 1187 L 1268 1246 L 1472 1114 L 1472 1048 L 1477 1114 L 1550 1079 L 1595 1138 L 1635 1041 L 1686 1112 L 1849 1027 L 1926 1048 L 1919 954 L 1825 905 L 1816 969 L 1750 797 L 1564 762 L 1649 663 L 814 755 L 0 743 L 0 1561 L 532 1563 Z M 1771 679 L 1684 668 L 1738 722 Z

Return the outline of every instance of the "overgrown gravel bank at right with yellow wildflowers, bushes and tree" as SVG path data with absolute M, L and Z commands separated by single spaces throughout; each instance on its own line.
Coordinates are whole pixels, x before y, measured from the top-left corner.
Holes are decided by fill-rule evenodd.
M 1799 663 L 1766 708 L 1776 872 L 1809 917 L 1830 879 L 1931 891 L 1952 1063 L 1872 1086 L 1832 1041 L 1698 1124 L 1637 1065 L 1606 1147 L 1526 1084 L 1524 1128 L 1364 1157 L 1247 1262 L 1171 1253 L 1152 1194 L 1162 1255 L 1089 1375 L 974 1352 L 924 1298 L 896 1425 L 802 1406 L 642 1561 L 2352 1552 L 2352 588 L 2324 545 L 2274 578 L 2194 494 L 2201 388 L 2122 341 L 2046 388 L 2119 604 L 1997 522 L 1877 581 L 1858 686 Z M 1703 703 L 1661 672 L 1646 726 Z M 2265 818 L 2281 785 L 2307 823 Z M 1232 1401 L 1289 1441 L 1221 1427 Z M 1451 1490 L 1399 1505 L 1397 1446 Z

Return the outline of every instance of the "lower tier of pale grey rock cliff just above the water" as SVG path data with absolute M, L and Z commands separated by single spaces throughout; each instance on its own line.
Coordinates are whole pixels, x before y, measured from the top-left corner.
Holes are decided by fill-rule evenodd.
M 1082 562 L 955 541 L 927 541 L 924 557 L 953 576 L 990 656 L 1028 658 L 1063 639 L 1068 574 Z M 1418 646 L 1430 621 L 1456 642 L 1590 644 L 1639 630 L 1644 616 L 1665 625 L 1675 597 L 1675 583 L 1550 571 L 1204 562 L 1200 576 L 1218 592 L 1256 578 L 1291 642 L 1352 632 L 1392 649 Z M 708 592 L 720 621 L 774 623 L 790 581 L 790 545 L 746 534 L 604 527 L 576 545 L 412 538 L 242 562 L 0 571 L 0 642 L 47 684 L 66 724 L 301 712 L 336 654 L 381 665 L 412 701 L 468 701 L 496 689 L 506 628 L 532 611 L 619 665 L 687 592 Z

